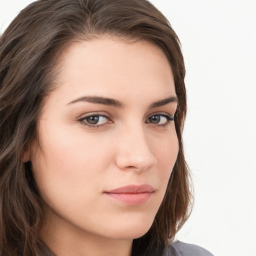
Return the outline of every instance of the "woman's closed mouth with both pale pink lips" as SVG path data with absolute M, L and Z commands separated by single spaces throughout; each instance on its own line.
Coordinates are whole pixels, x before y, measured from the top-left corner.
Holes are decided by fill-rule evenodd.
M 113 200 L 120 201 L 127 205 L 140 205 L 146 203 L 152 196 L 154 188 L 148 184 L 127 185 L 118 187 L 104 194 Z

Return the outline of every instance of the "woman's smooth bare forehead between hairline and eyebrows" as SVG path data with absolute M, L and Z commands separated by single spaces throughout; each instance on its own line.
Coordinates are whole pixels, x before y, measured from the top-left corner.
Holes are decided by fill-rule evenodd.
M 71 44 L 58 61 L 56 91 L 118 97 L 175 94 L 173 74 L 163 51 L 148 41 L 100 38 Z

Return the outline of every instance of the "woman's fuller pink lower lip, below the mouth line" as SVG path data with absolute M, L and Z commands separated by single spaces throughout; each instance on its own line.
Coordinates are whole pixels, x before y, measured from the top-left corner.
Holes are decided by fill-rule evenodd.
M 143 193 L 105 193 L 105 195 L 111 197 L 114 200 L 121 201 L 128 205 L 140 205 L 147 202 L 152 192 Z

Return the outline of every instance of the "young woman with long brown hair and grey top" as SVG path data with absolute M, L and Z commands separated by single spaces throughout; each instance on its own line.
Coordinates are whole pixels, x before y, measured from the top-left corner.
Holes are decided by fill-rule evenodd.
M 0 37 L 1 255 L 211 255 L 191 207 L 179 41 L 146 0 L 38 0 Z

